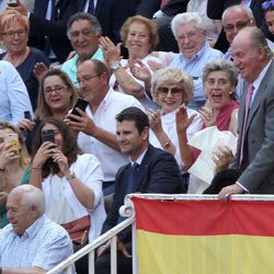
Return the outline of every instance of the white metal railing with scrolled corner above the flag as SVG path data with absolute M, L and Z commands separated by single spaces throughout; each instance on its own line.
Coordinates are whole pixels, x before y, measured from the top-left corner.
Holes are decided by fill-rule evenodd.
M 121 207 L 119 214 L 124 217 L 127 217 L 124 221 L 105 232 L 104 235 L 96 238 L 94 241 L 79 250 L 73 255 L 69 256 L 67 260 L 55 266 L 53 270 L 47 272 L 48 274 L 56 274 L 60 271 L 66 271 L 67 274 L 73 273 L 73 263 L 81 259 L 82 256 L 89 254 L 89 274 L 94 274 L 94 258 L 95 249 L 109 240 L 111 242 L 111 274 L 116 274 L 116 235 L 121 232 L 128 226 L 132 227 L 133 233 L 133 274 L 138 273 L 138 264 L 136 256 L 136 225 L 135 225 L 135 212 L 130 197 L 142 197 L 149 199 L 162 199 L 162 201 L 205 201 L 205 199 L 218 199 L 217 195 L 191 195 L 191 194 L 129 194 L 125 198 L 125 205 Z M 231 199 L 236 201 L 274 201 L 274 195 L 232 195 Z

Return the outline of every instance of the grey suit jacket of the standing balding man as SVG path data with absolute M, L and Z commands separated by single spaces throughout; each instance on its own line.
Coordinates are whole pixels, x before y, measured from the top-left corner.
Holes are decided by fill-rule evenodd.
M 274 62 L 264 76 L 253 99 L 247 121 L 243 160 L 240 165 L 240 140 L 246 102 L 239 110 L 239 141 L 237 155 L 229 168 L 242 171 L 238 181 L 250 193 L 274 194 Z M 243 94 L 246 98 L 247 91 Z

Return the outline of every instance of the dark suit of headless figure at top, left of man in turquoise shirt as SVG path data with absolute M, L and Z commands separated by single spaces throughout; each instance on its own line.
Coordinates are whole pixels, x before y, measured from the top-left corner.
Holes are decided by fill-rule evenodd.
M 76 0 L 56 0 L 55 20 L 46 20 L 48 0 L 35 0 L 34 12 L 30 14 L 30 45 L 45 50 L 45 36 L 60 62 L 64 62 L 72 50 L 67 37 L 67 21 L 77 12 Z

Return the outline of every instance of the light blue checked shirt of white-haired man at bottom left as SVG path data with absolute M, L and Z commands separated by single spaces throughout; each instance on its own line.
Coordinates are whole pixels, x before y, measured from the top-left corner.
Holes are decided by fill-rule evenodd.
M 0 230 L 1 267 L 42 267 L 46 271 L 73 253 L 67 231 L 45 215 L 19 236 L 12 225 Z

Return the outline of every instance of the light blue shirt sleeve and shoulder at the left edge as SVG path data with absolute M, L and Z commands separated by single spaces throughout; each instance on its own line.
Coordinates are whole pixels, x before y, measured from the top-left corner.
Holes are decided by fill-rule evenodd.
M 0 121 L 16 125 L 25 111 L 33 117 L 31 100 L 22 78 L 9 61 L 0 60 Z

